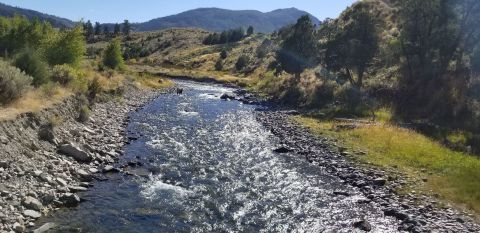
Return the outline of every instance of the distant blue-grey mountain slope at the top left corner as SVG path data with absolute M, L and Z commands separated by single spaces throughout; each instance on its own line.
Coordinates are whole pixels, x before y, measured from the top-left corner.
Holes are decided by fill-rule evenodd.
M 38 11 L 27 10 L 19 7 L 13 7 L 0 3 L 0 16 L 12 17 L 14 15 L 23 15 L 29 19 L 38 18 L 41 21 L 47 21 L 54 27 L 65 28 L 75 26 L 75 22 L 53 15 L 47 15 Z

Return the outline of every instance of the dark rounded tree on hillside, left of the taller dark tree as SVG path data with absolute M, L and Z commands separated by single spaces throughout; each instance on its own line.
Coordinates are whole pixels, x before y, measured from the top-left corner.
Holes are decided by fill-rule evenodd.
M 288 73 L 299 74 L 314 64 L 317 42 L 315 28 L 308 15 L 302 16 L 281 44 L 277 58 Z

